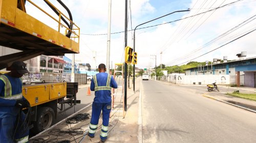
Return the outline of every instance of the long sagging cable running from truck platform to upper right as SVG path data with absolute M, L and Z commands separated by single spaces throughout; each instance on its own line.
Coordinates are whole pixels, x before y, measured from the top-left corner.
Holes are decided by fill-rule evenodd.
M 217 8 L 215 8 L 215 9 L 211 9 L 211 10 L 208 10 L 208 11 L 205 11 L 205 12 L 201 12 L 201 13 L 198 13 L 198 14 L 195 14 L 195 15 L 191 15 L 191 16 L 187 16 L 187 17 L 184 17 L 184 18 L 180 18 L 180 19 L 177 19 L 177 20 L 174 20 L 174 21 L 169 21 L 169 22 L 165 22 L 165 23 L 158 24 L 158 25 L 153 25 L 153 26 L 138 28 L 137 30 L 139 30 L 139 29 L 151 28 L 151 27 L 156 27 L 156 26 L 161 26 L 161 25 L 165 25 L 165 24 L 167 24 L 167 23 L 173 23 L 173 22 L 176 22 L 176 21 L 180 21 L 180 20 L 183 20 L 183 19 L 190 18 L 190 17 L 198 16 L 198 15 L 200 15 L 200 14 L 204 14 L 204 13 L 207 13 L 207 12 L 210 12 L 210 11 L 214 11 L 214 10 L 216 10 L 216 9 L 220 9 L 220 8 L 223 8 L 223 7 L 232 5 L 232 4 L 237 3 L 237 2 L 240 2 L 240 1 L 244 1 L 244 0 L 238 0 L 238 1 L 235 1 L 235 2 L 231 2 L 231 3 L 228 3 L 228 4 L 223 5 L 223 6 L 221 6 L 221 7 L 217 7 Z M 127 30 L 127 31 L 133 31 L 133 30 L 134 30 L 134 29 L 132 29 L 132 30 Z M 118 33 L 123 33 L 123 32 L 124 32 L 124 31 L 120 31 L 120 32 L 114 32 L 114 33 L 111 33 L 111 34 L 118 34 Z M 80 34 L 81 34 L 81 35 L 91 35 L 91 36 L 108 35 L 108 34 L 84 34 L 84 33 L 80 33 Z

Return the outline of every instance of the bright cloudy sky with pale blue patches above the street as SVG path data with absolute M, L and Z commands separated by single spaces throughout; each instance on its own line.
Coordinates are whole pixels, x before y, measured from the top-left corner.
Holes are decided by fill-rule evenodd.
M 68 15 L 55 0 L 49 1 Z M 58 18 L 43 1 L 32 2 Z M 90 63 L 92 68 L 96 68 L 100 63 L 106 64 L 109 1 L 62 0 L 62 2 L 68 6 L 73 21 L 80 28 L 80 53 L 75 54 L 75 60 Z M 111 34 L 110 68 L 114 67 L 115 63 L 124 62 L 125 22 L 125 1 L 111 2 L 111 33 L 116 34 Z M 136 67 L 152 68 L 160 63 L 165 66 L 182 65 L 189 61 L 223 59 L 223 56 L 227 56 L 228 60 L 237 60 L 236 55 L 241 52 L 247 52 L 246 58 L 256 57 L 256 32 L 253 31 L 256 29 L 255 0 L 131 0 L 127 3 L 128 30 L 157 17 L 190 9 L 138 27 L 143 29 L 137 28 Z M 57 29 L 55 21 L 29 2 L 26 2 L 26 10 L 28 14 Z M 134 31 L 127 32 L 127 46 L 134 47 L 133 34 Z M 72 58 L 71 54 L 66 56 Z

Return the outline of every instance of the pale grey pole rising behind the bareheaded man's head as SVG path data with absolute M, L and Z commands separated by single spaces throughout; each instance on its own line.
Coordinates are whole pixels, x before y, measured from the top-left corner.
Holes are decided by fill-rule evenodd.
M 109 0 L 108 48 L 106 50 L 106 73 L 110 73 L 111 0 Z

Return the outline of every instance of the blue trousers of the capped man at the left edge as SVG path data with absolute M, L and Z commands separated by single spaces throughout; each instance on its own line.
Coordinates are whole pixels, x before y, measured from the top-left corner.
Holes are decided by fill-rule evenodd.
M 24 140 L 28 139 L 29 128 L 27 124 L 25 124 L 26 126 L 20 127 L 24 125 L 24 120 L 25 114 L 23 112 L 21 112 L 21 118 L 19 120 L 17 116 L 0 118 L 0 143 L 24 142 Z

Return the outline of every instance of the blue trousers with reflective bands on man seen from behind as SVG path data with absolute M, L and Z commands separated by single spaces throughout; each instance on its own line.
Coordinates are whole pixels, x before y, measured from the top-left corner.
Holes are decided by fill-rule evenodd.
M 101 127 L 101 140 L 108 138 L 108 128 L 110 120 L 111 102 L 110 103 L 95 103 L 92 105 L 92 117 L 90 122 L 89 135 L 94 136 L 99 123 L 100 112 L 102 111 L 102 127 Z

